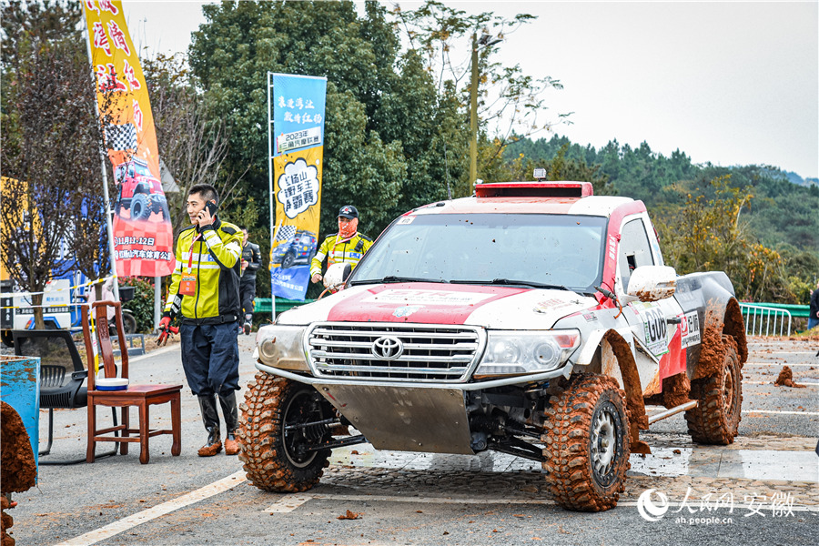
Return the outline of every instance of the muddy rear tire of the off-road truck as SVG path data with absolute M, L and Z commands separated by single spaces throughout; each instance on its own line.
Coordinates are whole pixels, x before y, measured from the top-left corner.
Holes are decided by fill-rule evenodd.
M 697 443 L 728 445 L 733 443 L 742 420 L 743 373 L 736 341 L 722 338 L 723 366 L 711 377 L 691 382 L 691 399 L 699 405 L 685 412 L 688 433 Z

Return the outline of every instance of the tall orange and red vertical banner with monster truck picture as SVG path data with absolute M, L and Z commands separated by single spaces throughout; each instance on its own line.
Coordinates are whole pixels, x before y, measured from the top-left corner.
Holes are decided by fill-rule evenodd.
M 116 274 L 169 275 L 174 236 L 159 182 L 157 133 L 122 2 L 84 0 L 83 4 L 99 115 L 114 167 Z

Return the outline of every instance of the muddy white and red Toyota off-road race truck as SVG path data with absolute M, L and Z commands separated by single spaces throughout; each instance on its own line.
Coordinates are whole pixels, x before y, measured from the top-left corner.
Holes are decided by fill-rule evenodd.
M 248 479 L 308 490 L 332 449 L 364 441 L 496 450 L 540 461 L 561 506 L 604 511 L 650 422 L 684 410 L 694 441 L 731 443 L 747 359 L 731 281 L 677 277 L 642 201 L 591 193 L 484 184 L 416 208 L 344 289 L 260 329 Z

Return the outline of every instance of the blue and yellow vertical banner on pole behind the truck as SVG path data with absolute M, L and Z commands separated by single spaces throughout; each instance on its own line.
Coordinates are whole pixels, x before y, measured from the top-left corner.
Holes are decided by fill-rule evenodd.
M 327 78 L 268 73 L 268 93 L 270 203 L 276 206 L 270 283 L 273 296 L 303 300 L 319 244 Z

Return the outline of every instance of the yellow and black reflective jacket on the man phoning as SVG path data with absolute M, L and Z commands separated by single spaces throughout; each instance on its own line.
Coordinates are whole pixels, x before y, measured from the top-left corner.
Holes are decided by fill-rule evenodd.
M 177 238 L 177 265 L 165 310 L 179 312 L 181 308 L 183 321 L 188 323 L 219 324 L 237 320 L 241 315 L 241 254 L 241 230 L 218 217 L 201 232 L 197 225 L 183 229 Z M 194 295 L 179 294 L 182 279 L 186 277 L 196 279 Z

